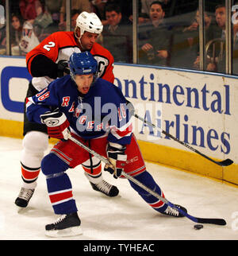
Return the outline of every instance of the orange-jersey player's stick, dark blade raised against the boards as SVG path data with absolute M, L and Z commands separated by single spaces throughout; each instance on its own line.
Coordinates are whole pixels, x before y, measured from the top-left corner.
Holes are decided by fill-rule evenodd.
M 220 165 L 220 166 L 228 166 L 228 165 L 232 165 L 233 161 L 231 159 L 225 159 L 224 161 L 214 161 L 212 158 L 206 156 L 204 153 L 201 153 L 200 151 L 198 151 L 197 149 L 194 149 L 193 147 L 191 147 L 190 145 L 186 144 L 185 142 L 181 142 L 178 140 L 178 138 L 175 138 L 173 135 L 167 133 L 167 131 L 159 129 L 157 126 L 155 126 L 152 122 L 148 122 L 146 121 L 144 118 L 141 118 L 138 114 L 135 114 L 134 110 L 129 110 L 130 113 L 137 119 L 139 119 L 140 121 L 148 124 L 149 126 L 152 126 L 153 128 L 155 128 L 155 130 L 159 130 L 160 132 L 162 132 L 162 134 L 166 135 L 167 137 L 171 138 L 172 140 L 174 140 L 175 142 L 178 142 L 181 145 L 186 146 L 187 149 L 190 149 L 192 151 L 194 151 L 194 153 L 198 153 L 200 156 L 205 157 L 207 160 L 212 161 L 214 164 Z

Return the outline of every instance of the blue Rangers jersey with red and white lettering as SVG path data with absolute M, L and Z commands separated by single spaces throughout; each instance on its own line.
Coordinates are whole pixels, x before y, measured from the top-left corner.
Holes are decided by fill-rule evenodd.
M 71 132 L 81 138 L 108 136 L 109 142 L 129 144 L 132 118 L 121 89 L 98 78 L 86 95 L 79 93 L 71 76 L 54 80 L 44 90 L 26 99 L 30 122 L 40 122 L 40 114 L 58 109 L 70 122 Z

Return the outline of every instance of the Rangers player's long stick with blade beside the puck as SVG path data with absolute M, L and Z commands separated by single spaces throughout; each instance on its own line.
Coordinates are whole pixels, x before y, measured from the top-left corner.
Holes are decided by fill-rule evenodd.
M 106 163 L 108 165 L 111 164 L 106 157 L 101 156 L 99 153 L 95 152 L 93 149 L 90 149 L 89 147 L 84 145 L 82 142 L 79 142 L 76 138 L 70 136 L 69 139 L 72 142 L 75 142 L 75 144 L 80 145 L 87 152 L 93 154 L 94 157 L 98 157 L 98 159 L 103 161 L 104 163 Z M 166 198 L 160 196 L 158 193 L 154 192 L 152 189 L 150 189 L 147 186 L 145 186 L 144 184 L 142 184 L 139 180 L 136 180 L 134 177 L 130 176 L 129 174 L 125 173 L 124 171 L 122 171 L 121 174 L 123 176 L 125 176 L 128 180 L 131 180 L 134 184 L 138 185 L 140 188 L 143 188 L 146 192 L 149 192 L 152 196 L 155 196 L 157 199 L 163 201 L 164 204 L 167 204 L 171 208 L 175 208 L 182 215 L 184 215 L 188 219 L 194 221 L 195 223 L 207 223 L 207 224 L 215 224 L 215 225 L 221 225 L 221 226 L 226 225 L 225 219 L 197 218 L 197 217 L 194 217 L 192 215 L 189 215 L 186 211 L 182 211 L 182 209 L 177 208 L 175 206 L 175 204 L 172 204 Z

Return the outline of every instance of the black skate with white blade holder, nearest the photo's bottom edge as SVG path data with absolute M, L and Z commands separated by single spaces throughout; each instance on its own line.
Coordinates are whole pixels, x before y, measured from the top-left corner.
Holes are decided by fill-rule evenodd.
M 82 235 L 83 231 L 80 224 L 81 221 L 77 212 L 61 215 L 58 219 L 56 219 L 55 223 L 45 226 L 45 235 L 51 237 Z

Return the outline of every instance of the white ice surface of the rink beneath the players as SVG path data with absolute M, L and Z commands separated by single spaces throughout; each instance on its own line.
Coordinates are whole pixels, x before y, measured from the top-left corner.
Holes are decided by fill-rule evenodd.
M 21 142 L 21 139 L 0 137 L 0 239 L 51 239 L 44 235 L 44 226 L 58 216 L 52 211 L 42 173 L 29 207 L 17 212 L 14 204 L 21 188 Z M 48 150 L 51 147 L 49 145 Z M 79 166 L 67 173 L 71 177 L 83 235 L 63 239 L 238 239 L 238 188 L 161 165 L 147 163 L 147 166 L 167 200 L 181 204 L 196 217 L 225 219 L 227 226 L 204 224 L 203 229 L 195 231 L 196 223 L 190 219 L 160 215 L 140 199 L 127 180 L 115 180 L 109 173 L 103 173 L 106 180 L 120 190 L 119 196 L 108 198 L 90 187 Z

